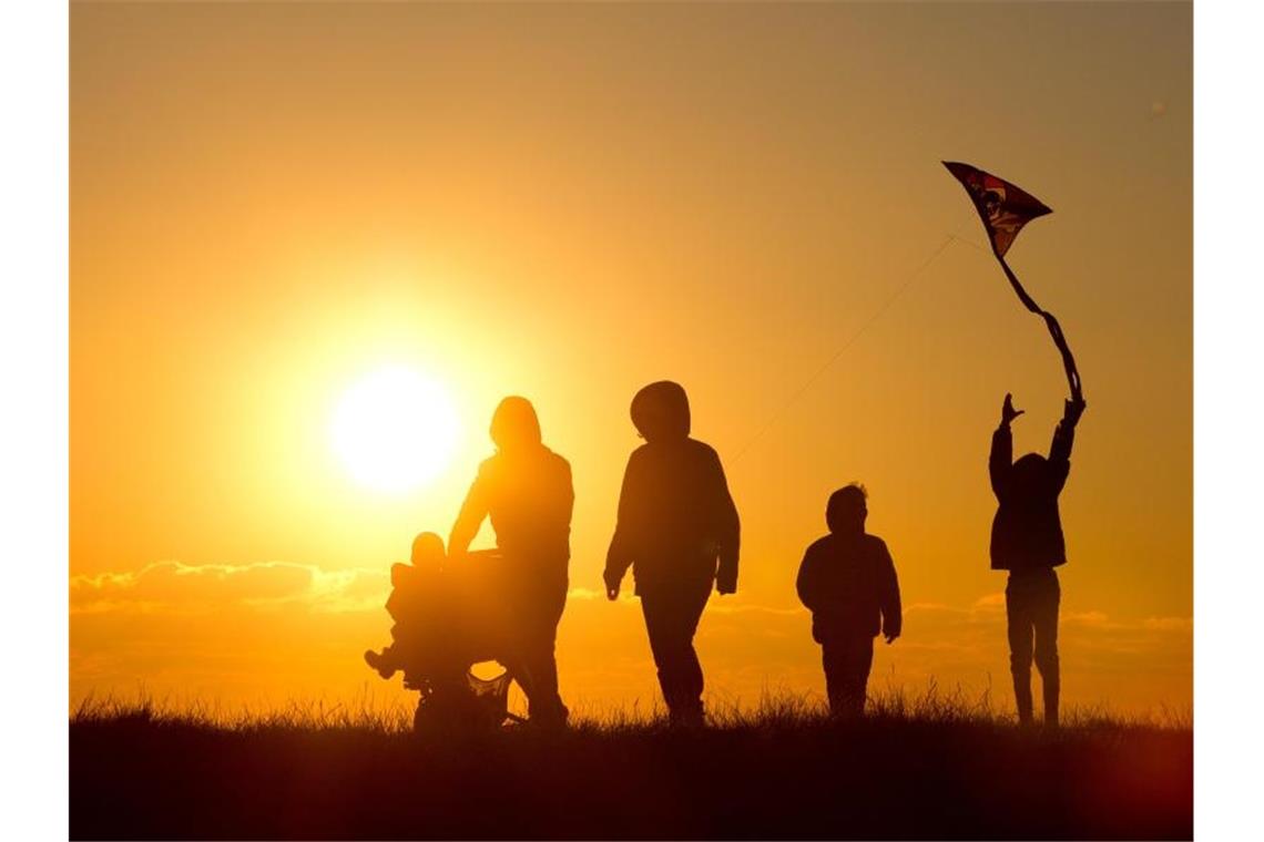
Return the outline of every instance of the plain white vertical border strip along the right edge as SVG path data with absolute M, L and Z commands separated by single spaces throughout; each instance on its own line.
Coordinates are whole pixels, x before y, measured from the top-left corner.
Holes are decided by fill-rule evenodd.
M 1212 839 L 1264 824 L 1261 24 L 1256 4 L 1194 4 L 1194 832 Z

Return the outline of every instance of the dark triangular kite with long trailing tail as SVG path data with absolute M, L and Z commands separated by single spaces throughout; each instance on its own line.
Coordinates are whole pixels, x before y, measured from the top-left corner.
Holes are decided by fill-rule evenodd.
M 1026 191 L 991 173 L 985 173 L 969 164 L 961 164 L 952 160 L 943 162 L 943 165 L 948 168 L 948 172 L 969 193 L 969 198 L 975 203 L 975 210 L 978 211 L 978 218 L 983 221 L 983 228 L 987 230 L 987 239 L 992 244 L 992 254 L 996 255 L 997 263 L 1005 270 L 1005 276 L 1010 279 L 1010 285 L 1018 293 L 1019 300 L 1029 311 L 1042 317 L 1045 326 L 1048 326 L 1053 343 L 1058 346 L 1058 352 L 1062 353 L 1062 367 L 1067 370 L 1071 399 L 1077 404 L 1082 404 L 1085 398 L 1079 389 L 1079 372 L 1076 370 L 1076 359 L 1071 355 L 1071 348 L 1067 346 L 1067 337 L 1062 335 L 1058 319 L 1054 318 L 1053 313 L 1042 309 L 1028 295 L 1026 290 L 1023 289 L 1023 284 L 1014 275 L 1014 270 L 1005 263 L 1005 252 L 1010 250 L 1014 239 L 1023 230 L 1023 226 L 1045 213 L 1053 213 L 1053 211 Z

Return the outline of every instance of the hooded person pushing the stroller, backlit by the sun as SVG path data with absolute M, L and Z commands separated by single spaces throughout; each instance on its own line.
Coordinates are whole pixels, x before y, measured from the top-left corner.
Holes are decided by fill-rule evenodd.
M 527 694 L 531 720 L 561 725 L 568 711 L 557 694 L 554 648 L 566 606 L 575 502 L 570 463 L 544 446 L 540 420 L 526 398 L 502 400 L 490 433 L 497 453 L 479 466 L 453 525 L 449 553 L 464 555 L 483 519 L 492 519 L 504 558 L 502 586 L 511 624 L 513 654 L 506 667 Z

